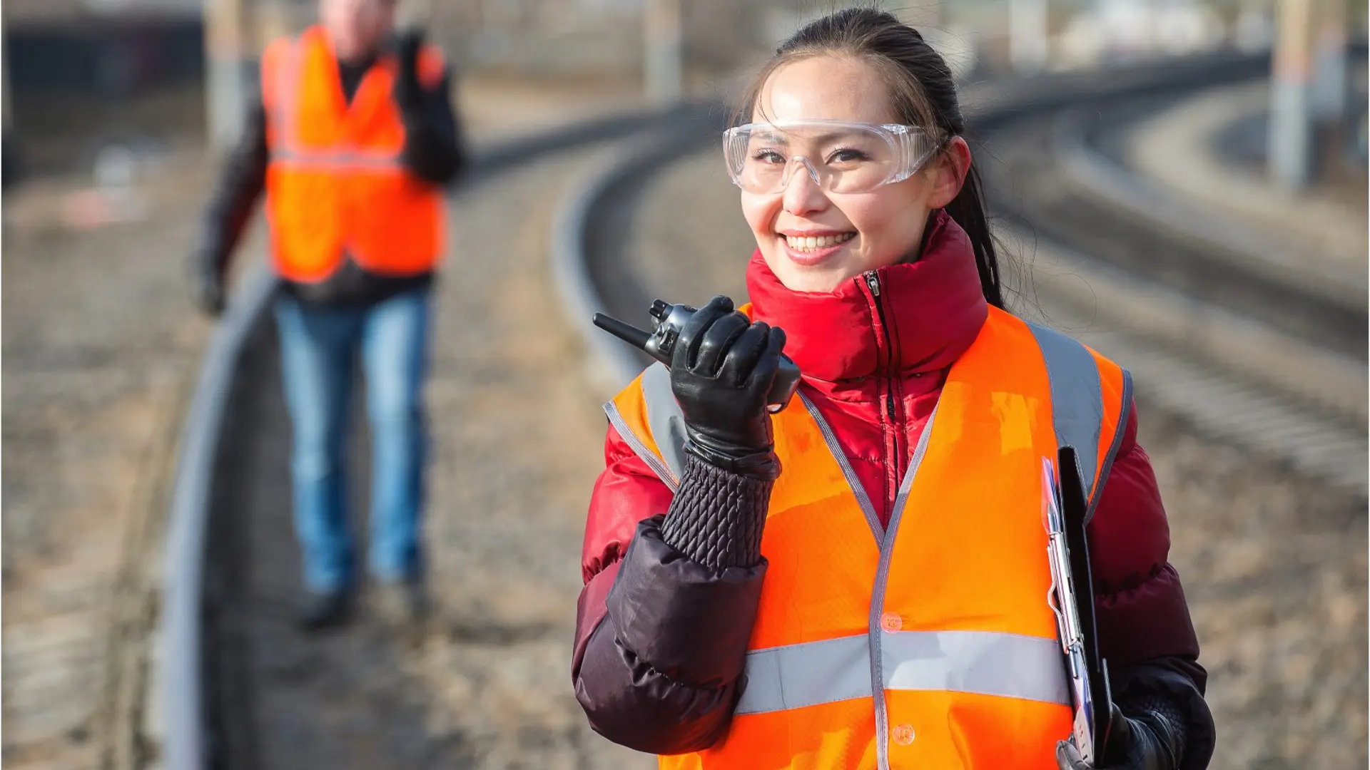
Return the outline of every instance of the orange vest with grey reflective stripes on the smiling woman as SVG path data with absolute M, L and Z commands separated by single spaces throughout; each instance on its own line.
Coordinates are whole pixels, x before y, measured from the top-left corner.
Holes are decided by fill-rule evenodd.
M 712 748 L 667 769 L 1056 767 L 1071 710 L 1043 523 L 1043 458 L 1077 448 L 1092 507 L 1130 375 L 991 308 L 951 367 L 888 530 L 804 395 L 773 417 L 781 475 L 747 685 Z M 606 404 L 674 490 L 684 421 L 660 364 Z

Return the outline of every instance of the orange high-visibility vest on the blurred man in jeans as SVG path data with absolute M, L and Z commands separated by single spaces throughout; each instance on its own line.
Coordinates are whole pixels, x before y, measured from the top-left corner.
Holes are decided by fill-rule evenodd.
M 419 79 L 443 75 L 437 49 L 421 51 Z M 267 114 L 267 219 L 277 271 L 326 280 L 344 249 L 385 275 L 418 275 L 443 253 L 443 195 L 400 163 L 404 123 L 390 96 L 399 63 L 381 56 L 352 103 L 321 27 L 281 38 L 262 56 Z

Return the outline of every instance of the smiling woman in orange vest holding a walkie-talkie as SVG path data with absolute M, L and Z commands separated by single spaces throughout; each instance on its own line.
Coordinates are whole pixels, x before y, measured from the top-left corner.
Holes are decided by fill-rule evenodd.
M 606 404 L 573 660 L 590 723 L 680 769 L 1206 767 L 1132 378 L 1003 310 L 945 62 L 841 11 L 734 123 L 754 304 L 714 297 Z M 782 351 L 800 397 L 770 414 Z M 1084 759 L 1040 523 L 1063 445 L 1114 699 Z

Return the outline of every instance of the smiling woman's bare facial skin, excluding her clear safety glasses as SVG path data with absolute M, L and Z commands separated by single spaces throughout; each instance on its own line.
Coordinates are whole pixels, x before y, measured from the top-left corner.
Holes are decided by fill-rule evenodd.
M 881 74 L 845 56 L 800 59 L 770 75 L 751 121 L 796 119 L 900 122 Z M 956 137 L 908 179 L 870 192 L 829 193 L 796 170 L 781 192 L 743 190 L 743 215 L 766 263 L 786 288 L 832 292 L 867 270 L 912 256 L 929 212 L 956 197 L 969 169 L 970 149 Z M 808 237 L 827 238 L 833 245 L 825 248 L 819 241 L 807 248 L 797 240 Z

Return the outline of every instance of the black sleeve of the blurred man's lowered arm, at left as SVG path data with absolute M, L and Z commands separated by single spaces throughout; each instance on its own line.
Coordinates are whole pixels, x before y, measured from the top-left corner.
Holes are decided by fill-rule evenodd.
M 248 108 L 237 147 L 229 152 L 223 175 L 204 215 L 204 240 L 197 252 L 199 269 L 222 277 L 266 189 L 266 108 L 260 97 Z

